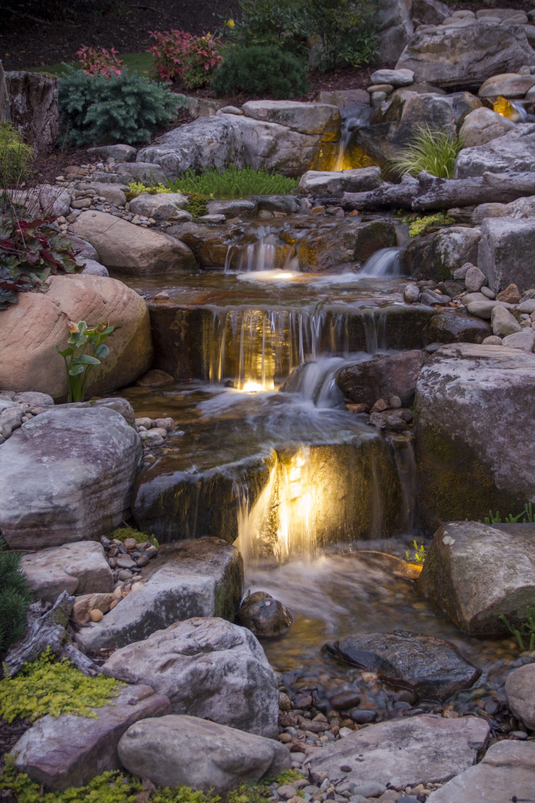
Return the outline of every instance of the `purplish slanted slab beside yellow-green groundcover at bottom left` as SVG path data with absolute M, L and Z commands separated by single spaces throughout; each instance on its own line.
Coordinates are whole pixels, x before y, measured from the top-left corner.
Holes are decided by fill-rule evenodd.
M 83 786 L 95 775 L 121 768 L 117 744 L 130 725 L 168 714 L 171 705 L 149 686 L 127 686 L 93 711 L 98 719 L 72 714 L 38 719 L 11 751 L 18 772 L 47 789 Z

